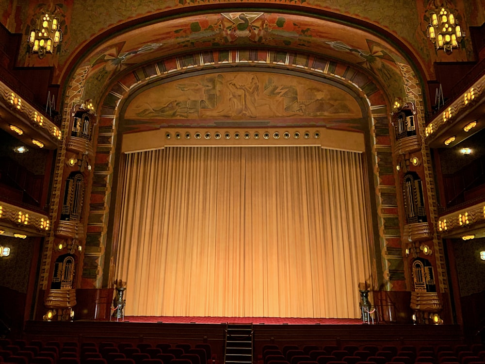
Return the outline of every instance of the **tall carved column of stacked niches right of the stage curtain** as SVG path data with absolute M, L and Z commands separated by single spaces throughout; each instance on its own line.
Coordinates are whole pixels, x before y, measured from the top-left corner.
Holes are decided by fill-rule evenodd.
M 396 143 L 394 159 L 398 191 L 402 196 L 401 219 L 403 252 L 407 259 L 410 307 L 415 323 L 442 323 L 438 313 L 442 306 L 436 291 L 433 240 L 435 232 L 429 222 L 429 196 L 425 193 L 422 164 L 422 137 L 414 104 L 408 102 L 392 116 Z

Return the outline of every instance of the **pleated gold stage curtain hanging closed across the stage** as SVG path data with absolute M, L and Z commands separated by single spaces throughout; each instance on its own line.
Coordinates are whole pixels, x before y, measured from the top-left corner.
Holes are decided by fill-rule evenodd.
M 127 315 L 360 317 L 362 156 L 320 147 L 127 155 L 116 276 Z

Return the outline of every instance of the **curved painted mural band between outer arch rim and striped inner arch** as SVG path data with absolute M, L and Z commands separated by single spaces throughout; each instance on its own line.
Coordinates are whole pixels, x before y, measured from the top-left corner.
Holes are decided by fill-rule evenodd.
M 84 99 L 96 99 L 113 74 L 174 50 L 214 49 L 227 46 L 281 47 L 344 59 L 386 85 L 390 95 L 402 96 L 399 63 L 407 64 L 396 50 L 372 34 L 303 16 L 236 12 L 197 15 L 155 23 L 113 37 L 93 50 L 81 66 L 85 77 Z

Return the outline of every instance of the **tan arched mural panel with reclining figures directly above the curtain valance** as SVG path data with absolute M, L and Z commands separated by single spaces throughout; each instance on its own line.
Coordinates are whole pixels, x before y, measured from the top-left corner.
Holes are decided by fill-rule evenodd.
M 210 73 L 150 87 L 131 100 L 123 118 L 126 126 L 138 129 L 180 125 L 184 119 L 204 125 L 217 125 L 218 120 L 291 125 L 291 119 L 298 124 L 308 119 L 331 126 L 346 120 L 342 125 L 348 128 L 349 119 L 357 119 L 350 129 L 363 130 L 359 105 L 342 89 L 297 76 L 250 71 Z

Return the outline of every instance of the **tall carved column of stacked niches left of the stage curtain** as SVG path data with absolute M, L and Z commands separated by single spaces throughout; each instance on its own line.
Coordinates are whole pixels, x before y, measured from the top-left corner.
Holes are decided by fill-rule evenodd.
M 85 196 L 94 164 L 93 130 L 96 116 L 92 105 L 76 105 L 72 112 L 70 134 L 66 136 L 60 163 L 63 164 L 61 199 L 54 222 L 49 291 L 44 304 L 46 320 L 71 320 L 76 305 L 76 287 L 81 274 L 87 225 Z

